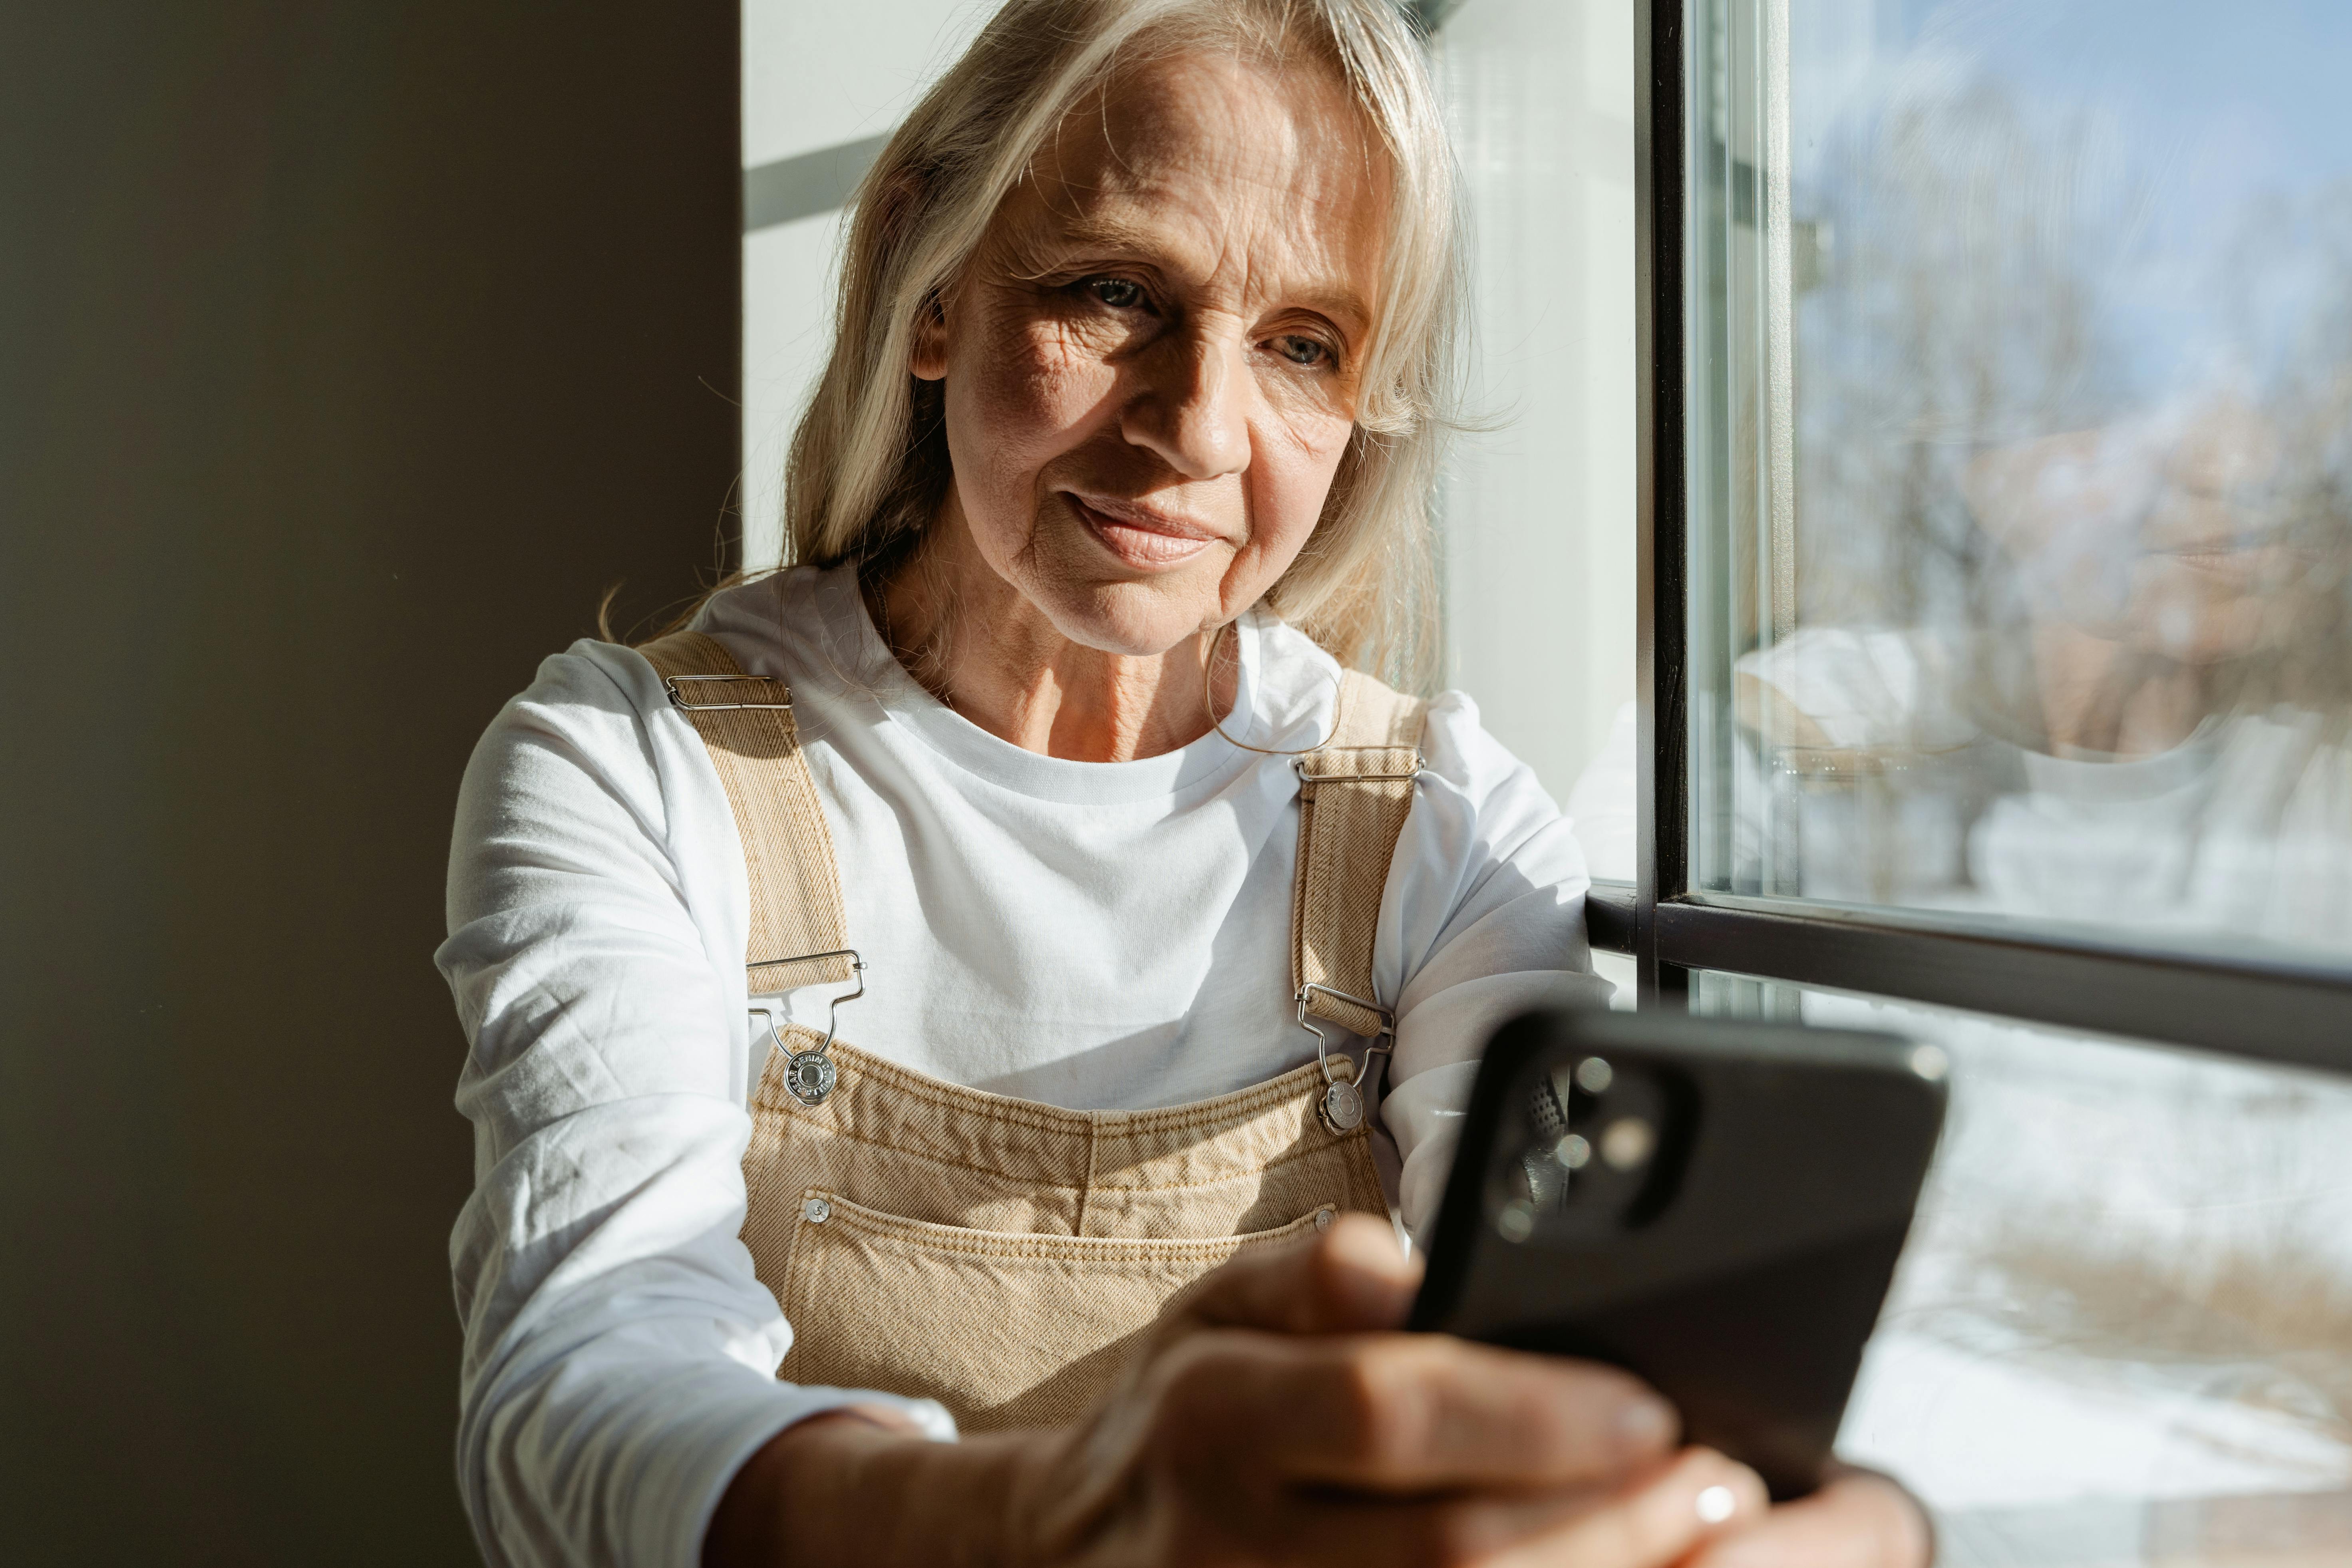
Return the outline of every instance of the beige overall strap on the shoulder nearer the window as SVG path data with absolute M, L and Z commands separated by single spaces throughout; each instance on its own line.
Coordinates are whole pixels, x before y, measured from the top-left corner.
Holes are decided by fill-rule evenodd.
M 1371 994 L 1371 943 L 1397 835 L 1414 809 L 1428 703 L 1343 670 L 1331 741 L 1298 757 L 1291 990 L 1310 1018 L 1374 1039 L 1395 1023 Z

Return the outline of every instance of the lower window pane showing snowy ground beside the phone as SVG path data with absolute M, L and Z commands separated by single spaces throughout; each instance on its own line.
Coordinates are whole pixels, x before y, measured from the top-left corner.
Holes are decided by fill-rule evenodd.
M 1839 1441 L 1947 1568 L 2352 1561 L 2352 1081 L 1712 973 L 1698 1006 L 1952 1060 Z

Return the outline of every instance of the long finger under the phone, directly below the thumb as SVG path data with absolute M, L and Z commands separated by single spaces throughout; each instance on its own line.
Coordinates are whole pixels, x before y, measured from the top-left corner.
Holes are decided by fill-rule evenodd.
M 1178 1467 L 1376 1493 L 1616 1486 L 1672 1446 L 1635 1378 L 1446 1335 L 1204 1331 L 1160 1366 Z

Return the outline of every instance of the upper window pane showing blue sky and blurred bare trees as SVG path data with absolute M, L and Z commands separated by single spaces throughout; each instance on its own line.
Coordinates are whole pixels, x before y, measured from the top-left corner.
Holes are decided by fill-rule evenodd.
M 1700 886 L 2352 952 L 2352 7 L 1696 12 Z

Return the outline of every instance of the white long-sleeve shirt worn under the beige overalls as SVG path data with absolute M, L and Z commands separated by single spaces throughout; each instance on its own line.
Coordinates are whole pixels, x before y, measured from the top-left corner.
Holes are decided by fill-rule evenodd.
M 696 625 L 793 689 L 868 961 L 844 1041 L 1082 1110 L 1200 1100 L 1312 1058 L 1291 1016 L 1289 757 L 1214 731 L 1143 762 L 1025 752 L 906 677 L 849 571 L 729 590 Z M 1256 614 L 1237 649 L 1228 733 L 1329 733 L 1322 649 Z M 1397 1009 L 1381 1119 L 1409 1225 L 1437 1206 L 1446 1117 L 1491 1027 L 1562 990 L 1606 994 L 1583 856 L 1534 773 L 1458 693 L 1430 708 L 1423 755 L 1374 959 Z M 435 954 L 475 1124 L 449 1239 L 459 1483 L 494 1566 L 691 1568 L 760 1443 L 875 1399 L 776 1382 L 795 1326 L 736 1239 L 764 1041 L 748 910 L 717 771 L 644 658 L 579 642 L 546 661 L 466 769 Z M 835 990 L 788 1006 L 823 1027 Z M 936 1406 L 910 1410 L 953 1434 Z

